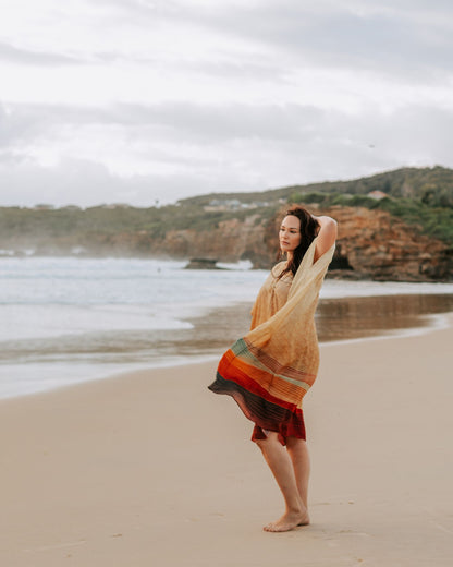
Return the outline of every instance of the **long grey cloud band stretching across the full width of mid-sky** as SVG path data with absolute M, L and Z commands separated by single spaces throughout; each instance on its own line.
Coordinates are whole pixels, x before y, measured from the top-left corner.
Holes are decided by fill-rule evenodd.
M 400 123 L 407 129 L 428 122 L 433 117 L 439 135 L 449 131 L 449 120 L 453 107 L 429 106 L 412 102 L 399 107 L 392 112 L 382 112 L 377 105 L 364 107 L 351 114 L 341 109 L 316 107 L 314 105 L 198 105 L 194 102 L 163 102 L 155 105 L 113 104 L 109 107 L 76 107 L 63 105 L 9 105 L 8 111 L 0 106 L 0 144 L 4 147 L 33 143 L 35 137 L 58 135 L 60 129 L 71 128 L 83 131 L 98 128 L 99 133 L 106 128 L 118 128 L 130 132 L 128 137 L 138 137 L 156 143 L 175 144 L 217 144 L 235 141 L 298 141 L 301 137 L 315 137 L 328 130 L 329 135 L 335 129 L 343 135 L 348 125 L 354 129 L 360 124 Z M 439 119 L 439 117 L 442 117 Z M 442 124 L 444 126 L 442 128 Z M 390 134 L 390 132 L 389 132 Z M 434 134 L 432 131 L 431 134 Z M 154 138 L 159 136 L 159 138 Z M 420 136 L 429 144 L 429 137 Z M 88 141 L 87 141 L 88 142 Z

